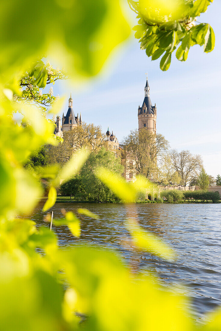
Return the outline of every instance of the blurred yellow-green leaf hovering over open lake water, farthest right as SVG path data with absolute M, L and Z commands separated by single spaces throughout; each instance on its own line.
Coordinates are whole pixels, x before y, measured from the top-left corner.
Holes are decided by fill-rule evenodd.
M 132 243 L 140 251 L 150 252 L 164 260 L 174 260 L 175 254 L 161 239 L 154 234 L 141 229 L 134 220 L 126 222 L 126 228 L 129 231 Z

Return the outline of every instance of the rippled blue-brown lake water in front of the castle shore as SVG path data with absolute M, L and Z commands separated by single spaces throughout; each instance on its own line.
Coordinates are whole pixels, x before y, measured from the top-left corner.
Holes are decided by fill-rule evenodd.
M 62 217 L 61 209 L 77 213 L 87 208 L 99 220 L 81 217 L 81 238 L 73 238 L 65 226 L 54 227 L 59 244 L 68 246 L 82 240 L 117 250 L 134 270 L 154 271 L 169 287 L 182 285 L 191 298 L 191 310 L 197 319 L 221 305 L 221 205 L 220 204 L 55 204 L 54 217 Z M 40 206 L 32 217 L 41 225 L 44 213 Z M 157 234 L 177 253 L 175 262 L 163 261 L 147 253 L 137 253 L 128 244 L 124 227 L 127 216 Z

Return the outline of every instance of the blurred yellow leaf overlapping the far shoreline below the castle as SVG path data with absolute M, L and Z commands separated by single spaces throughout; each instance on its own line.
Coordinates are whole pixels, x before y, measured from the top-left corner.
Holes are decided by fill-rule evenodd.
M 120 199 L 126 202 L 133 202 L 136 191 L 125 180 L 110 170 L 100 167 L 97 169 L 96 176 L 106 184 Z

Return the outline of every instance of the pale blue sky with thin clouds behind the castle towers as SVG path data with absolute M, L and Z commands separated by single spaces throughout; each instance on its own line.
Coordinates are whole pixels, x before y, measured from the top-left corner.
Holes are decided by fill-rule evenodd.
M 214 51 L 206 54 L 202 47 L 193 46 L 186 62 L 178 61 L 174 54 L 166 72 L 160 70 L 159 60 L 151 61 L 140 50 L 132 35 L 113 52 L 95 79 L 78 87 L 71 80 L 56 82 L 54 95 L 67 99 L 59 115 L 67 112 L 72 92 L 75 116 L 81 111 L 84 121 L 101 125 L 105 132 L 109 125 L 120 141 L 138 127 L 137 108 L 144 99 L 148 71 L 151 101 L 157 106 L 157 132 L 169 140 L 171 148 L 201 154 L 209 174 L 221 174 L 220 13 L 221 2 L 214 0 L 199 20 L 214 29 Z M 131 20 L 135 25 L 133 16 Z

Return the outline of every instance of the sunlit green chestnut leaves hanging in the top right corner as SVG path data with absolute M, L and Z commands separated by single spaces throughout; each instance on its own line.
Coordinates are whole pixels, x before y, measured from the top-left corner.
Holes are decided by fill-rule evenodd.
M 203 46 L 204 52 L 214 49 L 215 35 L 210 24 L 198 23 L 197 17 L 207 10 L 213 0 L 128 0 L 137 13 L 135 37 L 148 57 L 157 60 L 161 56 L 160 69 L 166 71 L 171 64 L 172 53 L 180 61 L 186 61 L 191 46 Z

